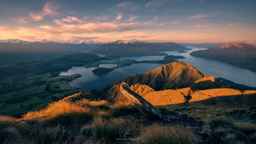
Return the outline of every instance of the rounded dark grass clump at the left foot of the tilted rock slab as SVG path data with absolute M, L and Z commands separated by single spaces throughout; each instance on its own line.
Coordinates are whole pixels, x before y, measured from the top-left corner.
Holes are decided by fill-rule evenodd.
M 139 112 L 139 109 L 134 105 L 119 104 L 113 107 L 112 114 L 114 116 L 122 116 Z

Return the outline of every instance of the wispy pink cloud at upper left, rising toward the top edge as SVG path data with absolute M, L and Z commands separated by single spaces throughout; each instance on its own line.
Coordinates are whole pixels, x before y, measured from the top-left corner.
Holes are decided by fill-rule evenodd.
M 40 21 L 46 16 L 58 16 L 58 12 L 55 10 L 58 9 L 59 6 L 54 4 L 53 2 L 49 2 L 45 4 L 44 8 L 38 12 L 30 12 L 27 16 L 10 18 L 11 20 L 16 21 L 16 23 L 28 23 L 30 21 Z

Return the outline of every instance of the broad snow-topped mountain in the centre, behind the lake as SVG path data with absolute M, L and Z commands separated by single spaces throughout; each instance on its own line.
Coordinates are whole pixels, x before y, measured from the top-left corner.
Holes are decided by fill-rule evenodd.
M 100 46 L 90 51 L 94 54 L 107 54 L 114 57 L 129 57 L 129 56 L 150 56 L 150 55 L 167 55 L 159 53 L 161 51 L 174 51 L 174 50 L 192 50 L 183 47 L 173 42 L 152 42 L 152 41 L 139 41 L 135 39 L 118 40 Z

